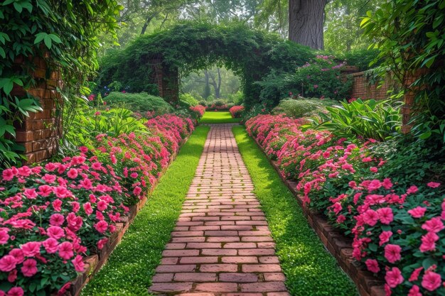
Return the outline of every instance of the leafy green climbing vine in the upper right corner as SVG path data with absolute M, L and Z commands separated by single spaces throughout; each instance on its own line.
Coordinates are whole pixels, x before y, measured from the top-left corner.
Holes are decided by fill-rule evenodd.
M 417 93 L 414 135 L 445 143 L 445 2 L 388 1 L 361 26 L 380 49 L 381 74 L 390 68 L 405 91 Z

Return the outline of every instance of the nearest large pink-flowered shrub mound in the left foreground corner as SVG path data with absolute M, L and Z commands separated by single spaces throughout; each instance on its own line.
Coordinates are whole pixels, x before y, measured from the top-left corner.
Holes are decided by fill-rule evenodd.
M 107 243 L 127 212 L 123 191 L 112 169 L 84 154 L 43 167 L 4 170 L 0 182 L 4 292 L 17 286 L 25 295 L 36 291 L 50 295 L 82 273 L 82 258 Z

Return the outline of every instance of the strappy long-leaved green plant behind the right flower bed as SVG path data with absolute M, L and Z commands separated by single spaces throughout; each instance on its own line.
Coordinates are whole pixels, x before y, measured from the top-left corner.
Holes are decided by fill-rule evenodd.
M 321 112 L 319 121 L 315 119 L 313 126 L 352 141 L 356 137 L 385 141 L 400 131 L 400 103 L 392 106 L 389 101 L 358 99 L 350 103 L 343 101 L 341 106 L 326 109 L 328 113 Z

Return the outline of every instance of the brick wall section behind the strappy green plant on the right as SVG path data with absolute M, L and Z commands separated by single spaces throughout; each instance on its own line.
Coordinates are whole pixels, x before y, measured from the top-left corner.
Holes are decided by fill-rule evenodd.
M 365 72 L 352 73 L 351 75 L 353 77 L 353 90 L 351 97 L 353 98 L 387 99 L 390 96 L 388 91 L 394 89 L 395 86 L 394 82 L 389 78 L 386 78 L 382 86 L 378 87 L 378 83 L 370 84 Z

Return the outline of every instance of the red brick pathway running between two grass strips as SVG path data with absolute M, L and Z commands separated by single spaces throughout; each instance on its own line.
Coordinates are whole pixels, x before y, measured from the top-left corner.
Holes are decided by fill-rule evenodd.
M 231 124 L 210 128 L 151 292 L 289 296 Z

